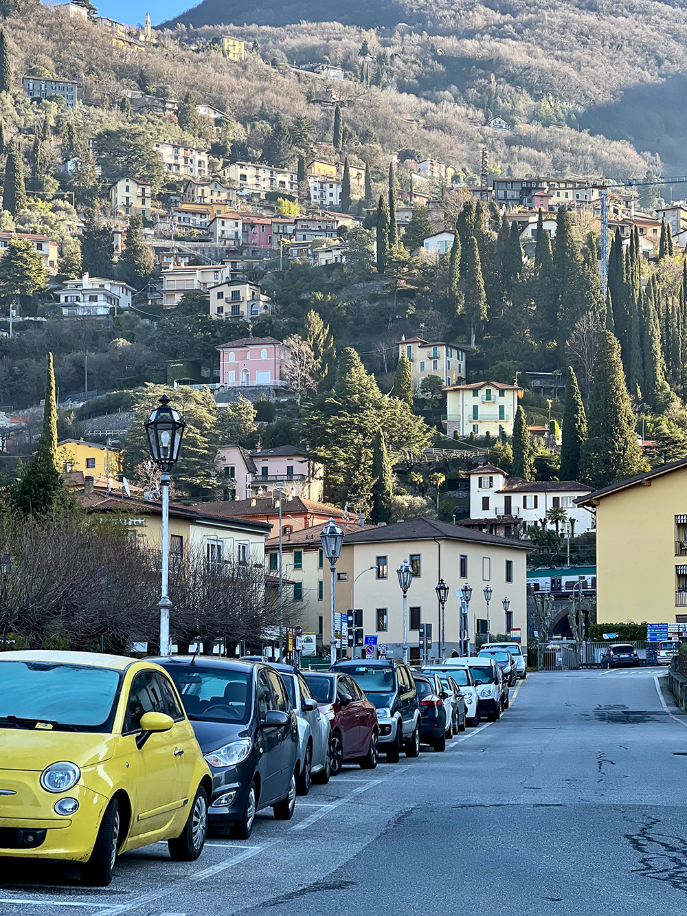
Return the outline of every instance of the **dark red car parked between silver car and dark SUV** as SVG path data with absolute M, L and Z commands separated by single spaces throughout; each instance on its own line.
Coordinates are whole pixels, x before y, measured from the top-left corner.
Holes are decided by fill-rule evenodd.
M 313 697 L 332 725 L 332 776 L 344 763 L 375 769 L 379 760 L 376 708 L 347 674 L 301 671 Z

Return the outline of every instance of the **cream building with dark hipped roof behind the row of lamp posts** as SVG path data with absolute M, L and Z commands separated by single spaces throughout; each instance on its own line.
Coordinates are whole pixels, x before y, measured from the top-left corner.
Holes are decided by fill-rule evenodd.
M 434 521 L 410 518 L 395 525 L 355 530 L 344 538 L 336 564 L 336 607 L 362 608 L 365 635 L 376 636 L 387 654 L 402 655 L 403 594 L 396 571 L 408 560 L 413 581 L 408 593 L 409 660 L 420 660 L 420 623 L 431 623 L 434 658 L 439 654 L 440 610 L 434 591 L 440 579 L 449 585 L 446 604 L 446 655 L 459 649 L 461 599 L 456 591 L 473 588 L 468 610 L 470 642 L 475 632 L 486 635 L 485 586 L 493 589 L 489 605 L 489 630 L 493 636 L 519 629 L 527 642 L 527 550 L 519 540 L 507 540 Z M 372 567 L 372 568 L 370 568 Z M 353 601 L 351 589 L 355 582 Z M 508 609 L 503 606 L 508 599 Z M 323 611 L 331 621 L 331 603 L 324 589 Z M 325 634 L 327 626 L 325 624 Z M 326 641 L 326 640 L 325 640 Z

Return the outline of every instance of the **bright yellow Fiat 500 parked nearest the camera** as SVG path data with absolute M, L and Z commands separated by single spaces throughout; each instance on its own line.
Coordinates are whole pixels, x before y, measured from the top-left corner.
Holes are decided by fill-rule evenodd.
M 85 652 L 0 652 L 0 856 L 82 863 L 202 853 L 213 781 L 167 672 Z

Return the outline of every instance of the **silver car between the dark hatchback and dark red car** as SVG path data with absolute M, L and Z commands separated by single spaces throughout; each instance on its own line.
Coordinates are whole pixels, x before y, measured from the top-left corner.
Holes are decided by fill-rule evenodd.
M 299 795 L 307 795 L 311 780 L 325 784 L 329 782 L 331 764 L 329 755 L 332 726 L 312 696 L 303 675 L 293 665 L 270 665 L 281 675 L 289 693 L 291 706 L 299 725 Z

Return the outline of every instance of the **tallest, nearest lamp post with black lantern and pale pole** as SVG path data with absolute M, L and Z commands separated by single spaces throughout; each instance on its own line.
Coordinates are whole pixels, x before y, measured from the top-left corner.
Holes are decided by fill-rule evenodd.
M 159 599 L 159 654 L 169 656 L 169 471 L 179 461 L 186 423 L 163 395 L 144 423 L 150 456 L 162 472 L 162 594 Z

